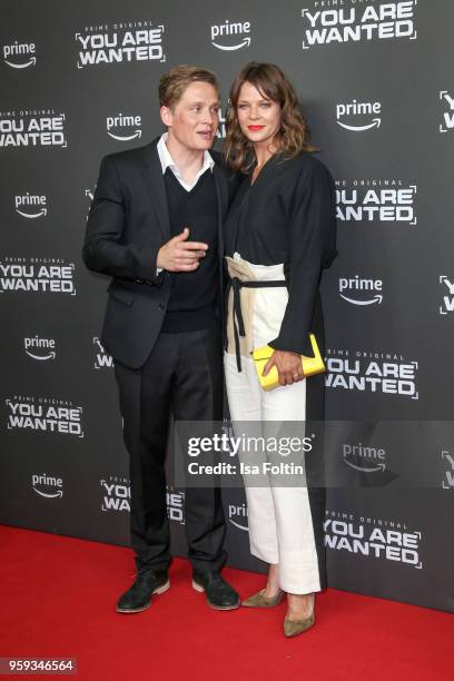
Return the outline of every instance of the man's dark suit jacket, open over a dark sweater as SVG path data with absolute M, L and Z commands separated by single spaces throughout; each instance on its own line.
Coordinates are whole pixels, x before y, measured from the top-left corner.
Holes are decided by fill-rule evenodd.
M 169 274 L 156 273 L 158 250 L 171 238 L 158 141 L 102 159 L 82 251 L 89 269 L 112 277 L 101 343 L 114 359 L 130 368 L 142 366 L 150 354 L 170 294 Z M 235 180 L 229 179 L 220 155 L 210 154 L 218 203 L 221 299 L 223 221 Z

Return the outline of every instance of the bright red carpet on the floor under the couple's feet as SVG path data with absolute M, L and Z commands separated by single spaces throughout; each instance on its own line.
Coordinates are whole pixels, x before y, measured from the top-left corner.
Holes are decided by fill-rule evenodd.
M 171 589 L 149 610 L 120 615 L 130 551 L 4 526 L 0 545 L 0 657 L 77 658 L 76 678 L 100 681 L 454 678 L 447 613 L 329 589 L 317 596 L 316 625 L 287 640 L 284 603 L 214 611 L 191 589 L 189 564 L 176 560 Z M 264 581 L 224 574 L 243 596 Z

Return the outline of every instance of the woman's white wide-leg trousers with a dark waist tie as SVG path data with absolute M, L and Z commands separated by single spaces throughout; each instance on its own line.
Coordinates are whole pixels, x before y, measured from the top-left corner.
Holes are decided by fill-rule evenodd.
M 283 277 L 282 266 L 248 264 L 256 279 Z M 273 272 L 276 269 L 276 272 Z M 254 296 L 253 346 L 260 347 L 277 337 L 287 302 L 286 288 L 259 288 Z M 225 353 L 228 404 L 234 432 L 245 431 L 243 422 L 251 421 L 257 434 L 267 432 L 270 422 L 306 420 L 306 379 L 273 391 L 261 389 L 254 362 L 241 356 L 238 372 L 235 354 Z M 237 423 L 237 430 L 235 428 Z M 278 426 L 278 424 L 276 424 Z M 240 452 L 247 463 L 248 453 Z M 265 457 L 265 453 L 264 453 Z M 277 486 L 265 477 L 260 486 L 247 484 L 249 542 L 253 555 L 267 563 L 279 564 L 280 588 L 289 593 L 320 591 L 318 557 L 307 486 Z

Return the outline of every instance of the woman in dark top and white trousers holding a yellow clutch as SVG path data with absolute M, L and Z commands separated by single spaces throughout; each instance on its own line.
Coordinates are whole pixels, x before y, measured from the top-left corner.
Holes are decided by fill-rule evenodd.
M 235 422 L 251 421 L 264 433 L 274 422 L 324 416 L 324 377 L 305 379 L 300 361 L 313 355 L 309 333 L 324 349 L 320 274 L 337 254 L 334 182 L 313 150 L 282 70 L 247 65 L 230 89 L 225 146 L 231 169 L 246 174 L 226 225 L 225 369 L 234 430 Z M 261 389 L 250 357 L 264 345 L 274 348 L 264 375 L 276 367 L 279 377 L 270 392 Z M 306 457 L 309 482 L 320 457 L 316 447 Z M 245 483 L 250 550 L 269 572 L 266 588 L 244 605 L 276 605 L 286 592 L 284 631 L 296 635 L 314 623 L 315 592 L 326 585 L 324 488 L 274 485 L 269 477 L 259 486 L 251 476 Z

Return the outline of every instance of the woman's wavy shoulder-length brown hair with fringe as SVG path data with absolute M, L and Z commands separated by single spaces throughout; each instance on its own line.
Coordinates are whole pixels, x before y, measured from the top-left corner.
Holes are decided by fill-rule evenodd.
M 260 95 L 280 105 L 280 129 L 274 139 L 278 152 L 292 158 L 302 151 L 315 151 L 310 145 L 310 132 L 299 110 L 298 99 L 285 73 L 274 63 L 250 61 L 236 76 L 230 88 L 230 101 L 226 116 L 227 136 L 224 156 L 235 171 L 247 171 L 254 162 L 254 147 L 244 135 L 237 116 L 239 91 L 243 83 L 250 82 Z

